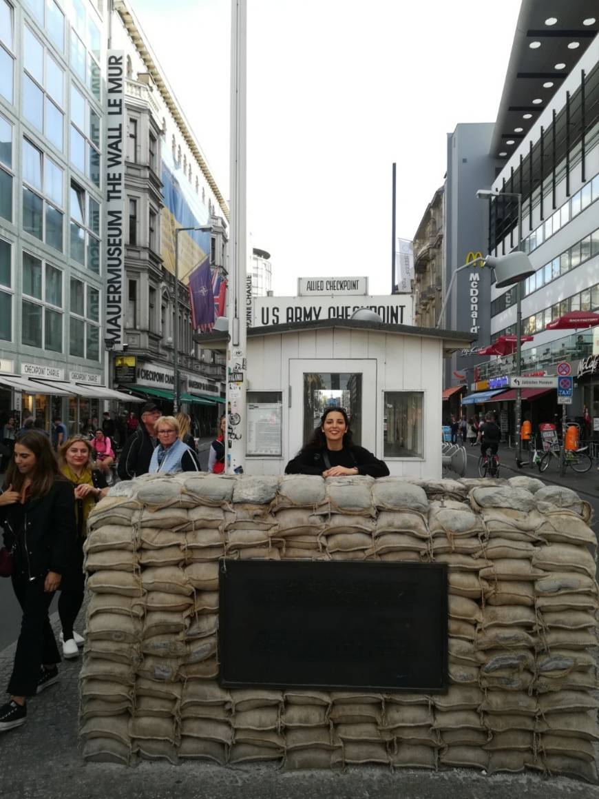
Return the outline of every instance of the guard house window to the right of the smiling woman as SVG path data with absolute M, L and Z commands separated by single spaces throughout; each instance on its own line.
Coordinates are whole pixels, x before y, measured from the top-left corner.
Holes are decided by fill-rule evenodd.
M 384 458 L 424 458 L 423 392 L 384 392 Z

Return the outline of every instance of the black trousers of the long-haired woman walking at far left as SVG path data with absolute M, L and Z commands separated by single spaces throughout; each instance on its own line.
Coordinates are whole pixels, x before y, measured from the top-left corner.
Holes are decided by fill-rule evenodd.
M 42 663 L 49 666 L 61 662 L 48 618 L 54 594 L 45 593 L 44 579 L 37 577 L 30 581 L 21 574 L 12 576 L 14 594 L 23 611 L 13 673 L 7 689 L 13 696 L 34 696 Z

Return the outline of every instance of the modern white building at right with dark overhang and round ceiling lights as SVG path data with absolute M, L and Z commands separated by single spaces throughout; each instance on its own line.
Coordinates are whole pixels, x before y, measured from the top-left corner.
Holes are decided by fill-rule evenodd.
M 506 85 L 491 141 L 504 165 L 492 185 L 499 196 L 488 248 L 522 247 L 537 270 L 522 284 L 522 333 L 532 339 L 522 345 L 522 369 L 555 375 L 569 363 L 576 387 L 568 415 L 581 419 L 586 407 L 599 423 L 599 328 L 557 323 L 566 312 L 599 311 L 599 14 L 596 2 L 579 2 L 560 4 L 558 19 L 539 17 L 538 5 L 522 3 L 509 71 L 518 64 L 527 77 L 518 72 Z M 502 193 L 522 198 L 522 233 L 518 198 Z M 514 288 L 492 288 L 491 341 L 516 332 L 515 304 Z M 558 328 L 547 330 L 551 322 Z M 513 370 L 513 357 L 494 359 L 479 380 Z M 562 415 L 555 389 L 525 395 L 534 422 Z M 511 396 L 493 399 L 508 412 L 514 405 Z

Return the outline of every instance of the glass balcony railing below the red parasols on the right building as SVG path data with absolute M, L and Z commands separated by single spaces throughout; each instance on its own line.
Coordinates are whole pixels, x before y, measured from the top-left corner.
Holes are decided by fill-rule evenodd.
M 552 371 L 551 366 L 559 364 L 562 360 L 573 361 L 593 355 L 593 329 L 584 332 L 572 333 L 562 339 L 555 339 L 538 347 L 528 347 L 521 352 L 521 371 L 540 372 Z M 474 356 L 476 357 L 476 356 Z M 516 371 L 516 356 L 508 355 L 502 358 L 476 364 L 479 369 L 479 380 L 489 380 L 491 377 L 510 375 Z

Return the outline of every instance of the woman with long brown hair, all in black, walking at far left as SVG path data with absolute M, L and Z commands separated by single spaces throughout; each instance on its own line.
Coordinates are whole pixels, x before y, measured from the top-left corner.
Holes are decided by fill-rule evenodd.
M 58 681 L 61 661 L 48 609 L 69 560 L 75 535 L 73 487 L 58 471 L 49 439 L 38 431 L 19 436 L 0 495 L 0 526 L 12 553 L 14 594 L 22 608 L 21 633 L 0 707 L 0 731 L 25 724 L 26 698 Z

